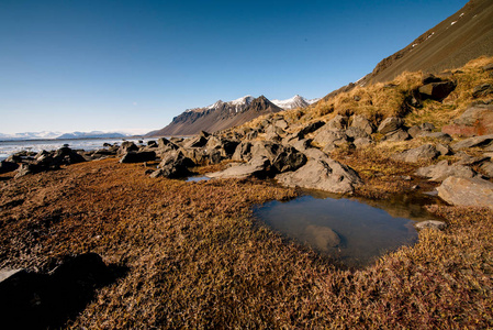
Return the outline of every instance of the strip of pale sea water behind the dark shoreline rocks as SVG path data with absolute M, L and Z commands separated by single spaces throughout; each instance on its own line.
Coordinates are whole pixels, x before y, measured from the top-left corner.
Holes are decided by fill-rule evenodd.
M 10 155 L 21 152 L 40 152 L 42 150 L 53 151 L 60 148 L 64 144 L 72 150 L 85 150 L 92 151 L 103 147 L 104 143 L 119 143 L 123 141 L 133 141 L 137 143 L 138 141 L 147 142 L 153 139 L 134 139 L 134 138 L 119 138 L 119 139 L 70 139 L 70 140 L 16 140 L 16 141 L 0 141 L 0 161 L 5 160 Z M 154 139 L 156 140 L 156 139 Z

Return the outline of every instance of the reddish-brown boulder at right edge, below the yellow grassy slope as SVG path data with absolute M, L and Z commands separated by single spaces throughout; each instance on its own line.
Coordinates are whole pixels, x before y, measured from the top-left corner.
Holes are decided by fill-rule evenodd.
M 441 131 L 461 136 L 493 134 L 493 105 L 475 105 L 468 108 L 453 124 L 445 125 Z

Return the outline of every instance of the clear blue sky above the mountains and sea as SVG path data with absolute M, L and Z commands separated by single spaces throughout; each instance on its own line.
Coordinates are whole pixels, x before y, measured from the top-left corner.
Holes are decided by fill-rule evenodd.
M 0 1 L 0 133 L 150 131 L 245 95 L 323 97 L 461 0 Z

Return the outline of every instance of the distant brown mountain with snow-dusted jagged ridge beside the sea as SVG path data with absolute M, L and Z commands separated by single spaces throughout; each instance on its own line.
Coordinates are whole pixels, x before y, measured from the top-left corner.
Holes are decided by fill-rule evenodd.
M 282 109 L 265 96 L 258 98 L 246 96 L 229 102 L 219 100 L 210 107 L 184 111 L 175 117 L 166 128 L 150 132 L 147 136 L 193 135 L 200 131 L 215 132 L 279 111 Z

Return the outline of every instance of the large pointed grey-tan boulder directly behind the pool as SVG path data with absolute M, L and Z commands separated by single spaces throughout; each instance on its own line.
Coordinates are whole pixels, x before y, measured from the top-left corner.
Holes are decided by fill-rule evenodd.
M 276 176 L 278 183 L 288 187 L 302 187 L 329 193 L 351 194 L 355 186 L 362 184 L 356 170 L 328 156 L 310 158 L 295 172 Z

